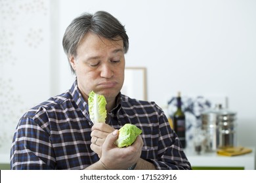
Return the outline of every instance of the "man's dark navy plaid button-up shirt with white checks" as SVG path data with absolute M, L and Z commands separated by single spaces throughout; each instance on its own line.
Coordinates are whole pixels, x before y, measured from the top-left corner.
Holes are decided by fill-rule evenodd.
M 154 102 L 119 94 L 108 122 L 119 129 L 135 124 L 142 129 L 141 158 L 157 169 L 191 169 L 181 143 Z M 88 105 L 75 81 L 66 93 L 30 109 L 18 123 L 11 148 L 11 169 L 85 169 L 98 161 L 90 148 Z

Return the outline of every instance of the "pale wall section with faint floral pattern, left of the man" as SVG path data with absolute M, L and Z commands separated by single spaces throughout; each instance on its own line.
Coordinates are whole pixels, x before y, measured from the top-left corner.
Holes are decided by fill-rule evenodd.
M 49 95 L 49 2 L 0 0 L 0 154 L 22 114 Z

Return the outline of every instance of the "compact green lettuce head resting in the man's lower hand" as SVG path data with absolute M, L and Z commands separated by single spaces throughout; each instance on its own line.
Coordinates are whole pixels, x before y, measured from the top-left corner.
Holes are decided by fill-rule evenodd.
M 142 130 L 136 125 L 125 124 L 119 129 L 119 136 L 115 144 L 119 148 L 131 146 L 140 133 L 142 133 Z

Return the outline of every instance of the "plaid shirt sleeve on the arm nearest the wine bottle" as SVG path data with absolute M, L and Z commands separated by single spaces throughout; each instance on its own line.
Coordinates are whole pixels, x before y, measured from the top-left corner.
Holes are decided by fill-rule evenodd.
M 191 169 L 191 165 L 184 154 L 179 141 L 179 137 L 171 129 L 167 117 L 160 107 L 158 113 L 159 138 L 158 138 L 158 157 L 150 159 L 157 169 Z

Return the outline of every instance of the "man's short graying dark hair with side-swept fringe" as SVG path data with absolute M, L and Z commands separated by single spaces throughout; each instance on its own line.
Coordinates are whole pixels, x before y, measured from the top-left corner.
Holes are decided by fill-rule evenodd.
M 62 46 L 68 59 L 70 56 L 77 56 L 77 46 L 81 39 L 89 32 L 115 41 L 117 37 L 121 37 L 125 54 L 129 49 L 129 38 L 126 34 L 125 26 L 114 16 L 104 11 L 98 11 L 95 14 L 85 12 L 75 18 L 71 24 L 68 25 L 64 33 Z M 75 73 L 71 65 L 70 67 L 72 73 Z

